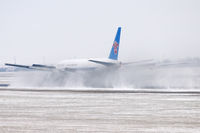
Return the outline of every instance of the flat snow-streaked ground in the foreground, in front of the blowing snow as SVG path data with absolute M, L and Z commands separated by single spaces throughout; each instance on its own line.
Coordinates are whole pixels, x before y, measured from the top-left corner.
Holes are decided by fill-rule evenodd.
M 0 132 L 4 133 L 200 131 L 199 93 L 2 89 Z

